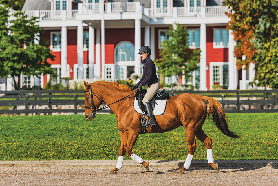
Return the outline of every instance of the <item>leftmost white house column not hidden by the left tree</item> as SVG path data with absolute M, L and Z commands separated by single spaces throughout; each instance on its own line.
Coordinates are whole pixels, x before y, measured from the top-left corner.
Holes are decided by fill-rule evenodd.
M 67 76 L 67 27 L 62 26 L 61 32 L 61 78 L 62 85 L 65 86 L 63 77 Z

